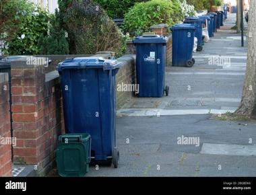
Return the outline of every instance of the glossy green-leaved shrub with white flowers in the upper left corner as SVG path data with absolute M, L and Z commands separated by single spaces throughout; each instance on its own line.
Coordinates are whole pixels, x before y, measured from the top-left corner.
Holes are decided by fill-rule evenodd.
M 24 9 L 18 9 L 15 15 L 15 19 L 19 19 L 19 22 L 16 23 L 17 29 L 11 34 L 11 38 L 5 42 L 4 54 L 38 54 L 38 38 L 41 34 L 47 34 L 49 13 L 26 1 L 23 5 L 26 6 L 20 8 Z M 10 34 L 8 30 L 5 32 L 7 35 Z

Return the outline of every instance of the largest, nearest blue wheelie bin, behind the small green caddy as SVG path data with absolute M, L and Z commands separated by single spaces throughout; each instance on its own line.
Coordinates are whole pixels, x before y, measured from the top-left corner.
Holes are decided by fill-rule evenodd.
M 67 59 L 59 63 L 67 134 L 88 133 L 91 163 L 118 166 L 116 147 L 115 75 L 121 63 L 100 57 Z

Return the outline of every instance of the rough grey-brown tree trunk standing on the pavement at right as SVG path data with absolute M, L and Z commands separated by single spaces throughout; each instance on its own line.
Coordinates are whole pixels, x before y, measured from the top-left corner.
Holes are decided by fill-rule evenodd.
M 241 106 L 235 114 L 256 118 L 256 1 L 250 3 L 245 85 Z

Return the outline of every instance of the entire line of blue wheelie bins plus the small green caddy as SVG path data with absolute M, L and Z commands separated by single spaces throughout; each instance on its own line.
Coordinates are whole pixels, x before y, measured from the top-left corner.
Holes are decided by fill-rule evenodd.
M 212 37 L 223 21 L 223 12 L 207 13 L 187 17 L 184 24 L 172 26 L 173 66 L 192 67 L 194 38 L 197 38 L 197 50 L 202 50 L 203 27 Z M 168 95 L 166 42 L 166 37 L 152 33 L 133 39 L 139 85 L 137 97 Z M 66 131 L 59 136 L 57 147 L 60 176 L 85 176 L 89 164 L 118 167 L 115 80 L 121 66 L 115 59 L 98 56 L 69 58 L 59 63 Z

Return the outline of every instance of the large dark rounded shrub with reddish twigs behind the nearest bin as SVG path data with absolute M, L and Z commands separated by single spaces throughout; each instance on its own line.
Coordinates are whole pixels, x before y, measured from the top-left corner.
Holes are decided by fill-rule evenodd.
M 57 22 L 68 34 L 71 54 L 119 53 L 122 34 L 104 10 L 90 0 L 59 0 Z

